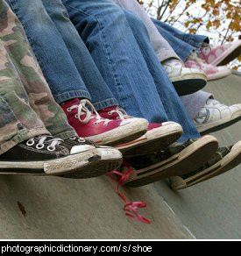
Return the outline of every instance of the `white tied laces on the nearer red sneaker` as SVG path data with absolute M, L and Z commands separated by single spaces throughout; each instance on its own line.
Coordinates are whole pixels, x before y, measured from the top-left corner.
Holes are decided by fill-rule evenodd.
M 92 103 L 89 102 L 89 100 L 82 100 L 79 105 L 73 105 L 73 106 L 69 107 L 68 111 L 72 111 L 74 109 L 78 110 L 77 117 L 82 124 L 87 124 L 87 123 L 89 123 L 89 120 L 94 119 L 94 118 L 96 119 L 95 124 L 100 124 L 103 122 L 103 125 L 106 126 L 111 122 L 111 120 L 109 120 L 109 119 L 102 118 L 98 114 L 98 112 L 96 111 L 96 109 L 94 108 Z M 86 114 L 86 117 L 84 119 L 81 118 L 81 116 L 83 114 Z M 95 116 L 93 116 L 93 114 Z

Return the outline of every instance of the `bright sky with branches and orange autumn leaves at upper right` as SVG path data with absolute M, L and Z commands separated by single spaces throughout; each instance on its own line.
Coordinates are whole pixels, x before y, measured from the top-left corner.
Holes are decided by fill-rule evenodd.
M 241 36 L 241 0 L 138 0 L 152 18 L 182 32 L 206 35 L 220 46 Z M 241 38 L 240 38 L 241 39 Z M 241 56 L 230 63 L 241 71 Z

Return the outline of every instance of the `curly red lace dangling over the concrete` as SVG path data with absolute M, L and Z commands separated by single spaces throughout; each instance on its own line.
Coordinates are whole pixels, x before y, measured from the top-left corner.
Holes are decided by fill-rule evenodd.
M 124 182 L 127 181 L 131 175 L 131 173 L 133 172 L 133 167 L 131 167 L 131 165 L 129 165 L 128 163 L 124 162 L 123 163 L 124 167 L 128 168 L 128 171 L 123 174 L 120 173 L 116 170 L 110 172 L 109 174 L 106 174 L 107 176 L 110 177 L 110 179 L 112 179 L 113 181 L 117 181 L 118 182 L 118 186 L 117 186 L 117 195 L 124 201 L 124 211 L 125 215 L 128 217 L 132 217 L 134 219 L 136 219 L 137 221 L 140 221 L 142 223 L 145 224 L 151 224 L 151 221 L 148 220 L 147 218 L 143 217 L 139 212 L 138 212 L 138 208 L 145 208 L 146 207 L 146 203 L 142 202 L 142 201 L 138 201 L 138 202 L 130 202 L 126 199 L 126 197 L 124 196 L 124 194 L 120 191 L 120 188 L 123 187 Z M 119 178 L 115 177 L 115 174 L 117 176 L 119 176 Z

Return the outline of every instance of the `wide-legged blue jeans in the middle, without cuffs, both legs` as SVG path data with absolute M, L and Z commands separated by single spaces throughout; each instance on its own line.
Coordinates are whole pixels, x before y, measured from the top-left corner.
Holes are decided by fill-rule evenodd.
M 129 114 L 149 122 L 175 121 L 183 127 L 182 140 L 199 137 L 137 17 L 111 0 L 62 2 L 105 82 Z

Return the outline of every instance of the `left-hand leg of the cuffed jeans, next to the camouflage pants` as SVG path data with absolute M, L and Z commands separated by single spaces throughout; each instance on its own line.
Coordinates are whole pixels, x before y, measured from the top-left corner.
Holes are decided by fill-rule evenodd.
M 33 52 L 57 103 L 74 97 L 90 99 L 67 46 L 42 0 L 6 0 L 25 28 Z M 52 1 L 53 2 L 53 1 Z

